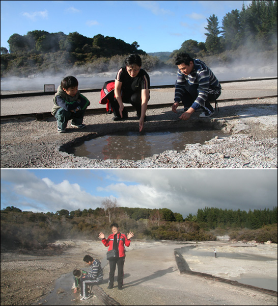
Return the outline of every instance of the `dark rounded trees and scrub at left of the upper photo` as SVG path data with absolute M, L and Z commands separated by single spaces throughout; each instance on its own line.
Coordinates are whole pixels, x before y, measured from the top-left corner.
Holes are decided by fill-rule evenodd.
M 1 75 L 5 77 L 28 76 L 49 70 L 58 73 L 72 67 L 85 67 L 87 71 L 82 70 L 81 73 L 116 70 L 122 64 L 116 67 L 115 57 L 126 57 L 131 53 L 146 55 L 138 49 L 136 41 L 128 44 L 121 39 L 101 34 L 88 38 L 77 32 L 65 35 L 63 32 L 35 30 L 26 35 L 13 34 L 8 43 L 10 54 L 6 48 L 1 48 Z M 147 66 L 156 64 L 156 59 L 153 62 L 149 60 Z

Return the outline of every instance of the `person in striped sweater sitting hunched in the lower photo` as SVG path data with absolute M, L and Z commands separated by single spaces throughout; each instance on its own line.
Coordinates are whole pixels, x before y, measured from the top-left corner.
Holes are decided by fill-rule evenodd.
M 88 275 L 82 276 L 80 279 L 80 295 L 82 296 L 80 300 L 85 301 L 90 297 L 89 286 L 101 281 L 103 271 L 100 261 L 97 259 L 94 260 L 90 255 L 86 255 L 83 260 L 90 266 Z

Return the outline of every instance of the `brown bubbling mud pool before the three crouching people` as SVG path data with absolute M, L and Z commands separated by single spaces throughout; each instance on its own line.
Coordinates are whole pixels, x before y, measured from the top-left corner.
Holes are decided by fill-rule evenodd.
M 215 136 L 224 137 L 221 131 L 160 131 L 120 132 L 97 137 L 71 148 L 69 153 L 91 159 L 141 160 L 165 150 L 183 150 L 186 144 L 204 143 Z

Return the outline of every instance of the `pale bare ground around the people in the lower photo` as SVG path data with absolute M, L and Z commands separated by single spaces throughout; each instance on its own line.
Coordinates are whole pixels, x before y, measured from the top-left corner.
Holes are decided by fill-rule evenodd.
M 215 244 L 216 243 L 216 244 Z M 56 245 L 63 250 L 57 254 L 57 247 L 51 252 L 1 252 L 1 305 L 101 305 L 97 297 L 87 301 L 79 301 L 79 294 L 74 296 L 72 270 L 85 267 L 82 258 L 91 254 L 102 260 L 104 265 L 104 282 L 100 287 L 110 297 L 122 305 L 276 305 L 277 297 L 258 291 L 240 288 L 229 284 L 214 282 L 198 276 L 180 274 L 176 265 L 174 250 L 184 244 L 166 242 L 133 241 L 127 250 L 125 262 L 124 289 L 107 289 L 109 267 L 104 258 L 106 248 L 100 241 L 60 241 Z M 66 248 L 65 246 L 71 246 Z M 193 244 L 192 244 L 193 245 Z M 184 254 L 190 268 L 219 274 L 242 272 L 249 269 L 250 264 L 258 265 L 257 256 L 264 256 L 268 261 L 260 261 L 261 277 L 277 278 L 277 245 L 261 245 L 241 247 L 241 245 L 219 246 L 219 242 L 198 244 L 200 251 L 210 250 L 217 245 L 218 258 L 204 258 L 200 254 Z M 223 252 L 244 253 L 249 260 L 237 259 L 222 261 Z M 226 249 L 225 249 L 226 248 Z M 229 249 L 230 248 L 230 249 Z M 231 250 L 233 249 L 233 250 Z M 53 255 L 53 252 L 56 253 Z M 199 261 L 199 264 L 198 264 Z M 192 266 L 191 266 L 192 265 Z M 66 274 L 68 273 L 68 274 Z M 257 271 L 256 271 L 257 273 Z M 276 273 L 276 274 L 275 274 Z M 55 281 L 68 275 L 67 287 Z M 117 273 L 116 273 L 117 275 Z M 228 275 L 226 275 L 228 277 Z M 62 277 L 63 278 L 63 277 Z

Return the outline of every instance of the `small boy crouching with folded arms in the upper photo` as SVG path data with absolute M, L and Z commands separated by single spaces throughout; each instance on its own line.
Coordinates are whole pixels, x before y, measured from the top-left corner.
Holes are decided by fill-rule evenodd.
M 83 118 L 90 101 L 80 94 L 76 78 L 70 75 L 62 80 L 53 102 L 51 114 L 57 119 L 58 133 L 66 132 L 69 120 L 72 120 L 71 126 L 77 129 L 83 129 L 86 126 L 83 124 Z

